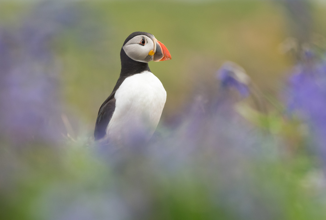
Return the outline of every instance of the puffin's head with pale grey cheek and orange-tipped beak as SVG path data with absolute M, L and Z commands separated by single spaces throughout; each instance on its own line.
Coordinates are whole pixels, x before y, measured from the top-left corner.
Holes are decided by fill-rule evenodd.
M 146 32 L 134 32 L 122 46 L 127 56 L 133 60 L 148 63 L 149 61 L 170 60 L 171 55 L 168 49 L 156 40 L 156 38 Z

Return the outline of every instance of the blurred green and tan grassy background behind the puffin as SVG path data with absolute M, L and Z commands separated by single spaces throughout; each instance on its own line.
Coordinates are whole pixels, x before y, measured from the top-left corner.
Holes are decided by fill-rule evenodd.
M 37 2 L 0 3 L 3 23 L 33 13 Z M 59 3 L 60 4 L 60 3 Z M 62 98 L 92 129 L 97 111 L 120 73 L 120 49 L 134 31 L 152 33 L 169 49 L 172 60 L 150 63 L 167 91 L 162 119 L 182 113 L 200 87 L 210 87 L 225 60 L 243 66 L 266 93 L 276 94 L 295 59 L 282 44 L 296 36 L 301 24 L 283 1 L 80 1 L 84 28 L 95 40 L 82 45 L 78 30 L 66 30 L 53 49 L 63 61 Z M 308 2 L 313 23 L 310 38 L 325 36 L 325 5 Z M 304 16 L 304 15 L 302 15 Z M 7 22 L 6 22 L 7 21 Z M 80 28 L 80 27 L 79 27 Z M 305 28 L 305 27 L 303 27 Z M 77 28 L 76 28 L 77 29 Z M 300 36 L 299 36 L 300 37 Z

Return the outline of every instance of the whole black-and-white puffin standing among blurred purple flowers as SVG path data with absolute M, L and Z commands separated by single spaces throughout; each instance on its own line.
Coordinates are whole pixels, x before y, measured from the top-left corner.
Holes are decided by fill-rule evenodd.
M 134 32 L 123 43 L 120 59 L 120 76 L 99 108 L 94 138 L 121 143 L 138 135 L 149 140 L 160 120 L 166 91 L 148 63 L 170 60 L 170 52 L 152 34 Z

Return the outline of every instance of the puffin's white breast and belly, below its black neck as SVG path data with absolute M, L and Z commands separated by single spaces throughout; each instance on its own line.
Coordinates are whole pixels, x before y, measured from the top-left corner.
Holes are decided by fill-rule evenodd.
M 166 91 L 159 79 L 149 71 L 126 78 L 114 98 L 115 110 L 106 133 L 121 141 L 138 135 L 149 139 L 160 120 L 166 101 Z

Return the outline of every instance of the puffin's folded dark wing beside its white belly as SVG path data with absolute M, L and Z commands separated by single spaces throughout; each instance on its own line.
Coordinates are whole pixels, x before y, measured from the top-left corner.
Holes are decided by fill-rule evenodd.
M 106 135 L 106 127 L 108 126 L 114 109 L 115 109 L 115 98 L 112 93 L 101 105 L 98 110 L 98 115 L 95 123 L 94 137 L 95 140 L 101 139 Z

